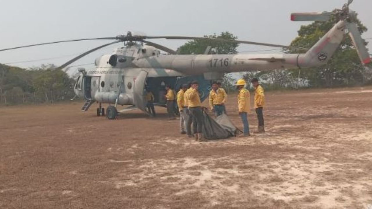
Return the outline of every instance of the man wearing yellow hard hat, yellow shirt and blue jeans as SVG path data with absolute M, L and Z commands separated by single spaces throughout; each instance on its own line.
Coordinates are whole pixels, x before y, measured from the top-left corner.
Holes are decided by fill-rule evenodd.
M 250 112 L 250 94 L 248 89 L 246 89 L 246 81 L 243 79 L 238 80 L 236 83 L 236 86 L 239 90 L 238 93 L 238 112 L 241 118 L 241 121 L 243 122 L 243 134 L 244 136 L 250 136 L 249 133 L 249 123 L 248 123 L 248 117 L 247 114 Z

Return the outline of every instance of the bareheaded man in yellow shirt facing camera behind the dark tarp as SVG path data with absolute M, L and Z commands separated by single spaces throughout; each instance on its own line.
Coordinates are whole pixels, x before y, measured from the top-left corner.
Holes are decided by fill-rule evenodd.
M 218 87 L 216 81 L 212 83 L 212 90 L 209 92 L 209 107 L 216 116 L 222 115 L 224 113 L 224 105 L 227 99 L 226 92 Z

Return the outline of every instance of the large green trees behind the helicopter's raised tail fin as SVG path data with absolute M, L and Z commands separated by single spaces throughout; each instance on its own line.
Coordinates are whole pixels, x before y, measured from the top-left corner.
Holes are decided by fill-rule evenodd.
M 360 33 L 366 32 L 367 28 L 356 20 Z M 314 22 L 303 25 L 298 31 L 298 37 L 292 41 L 292 46 L 311 48 L 321 37 L 334 25 L 335 20 L 327 22 Z M 305 51 L 288 51 L 289 53 L 305 53 Z M 365 67 L 360 63 L 356 49 L 350 36 L 345 36 L 339 49 L 333 55 L 327 65 L 320 68 L 291 70 L 292 77 L 299 76 L 299 80 L 307 80 L 312 87 L 349 86 L 365 84 Z

